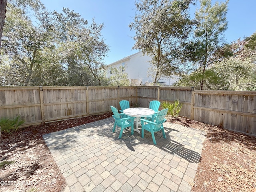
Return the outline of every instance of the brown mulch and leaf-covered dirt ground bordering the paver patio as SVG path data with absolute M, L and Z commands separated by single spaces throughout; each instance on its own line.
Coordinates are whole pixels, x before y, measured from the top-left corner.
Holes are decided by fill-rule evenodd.
M 109 118 L 112 112 L 20 128 L 2 133 L 0 142 L 0 192 L 62 192 L 65 180 L 42 135 Z M 170 118 L 168 118 L 170 122 Z M 202 158 L 192 192 L 256 192 L 256 138 L 216 126 L 178 118 L 206 132 Z

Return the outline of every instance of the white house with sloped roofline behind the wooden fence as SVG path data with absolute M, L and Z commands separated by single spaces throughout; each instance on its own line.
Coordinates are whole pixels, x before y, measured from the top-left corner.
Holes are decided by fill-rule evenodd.
M 142 52 L 138 52 L 127 56 L 123 59 L 120 59 L 116 62 L 108 64 L 108 77 L 112 75 L 111 68 L 120 66 L 126 66 L 124 72 L 128 74 L 128 79 L 130 80 L 132 85 L 147 85 L 151 82 L 154 82 L 152 77 L 148 77 L 148 68 L 150 67 L 151 57 L 148 55 L 144 55 Z M 170 78 L 161 78 L 159 80 L 159 84 L 161 85 L 172 85 L 174 82 L 178 80 L 178 76 L 170 77 Z

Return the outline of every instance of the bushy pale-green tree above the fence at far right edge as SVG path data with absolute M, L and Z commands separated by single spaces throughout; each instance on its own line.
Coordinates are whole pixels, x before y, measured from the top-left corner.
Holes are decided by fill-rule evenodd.
M 254 34 L 230 44 L 232 56 L 213 65 L 212 70 L 222 74 L 229 90 L 256 90 L 256 48 Z

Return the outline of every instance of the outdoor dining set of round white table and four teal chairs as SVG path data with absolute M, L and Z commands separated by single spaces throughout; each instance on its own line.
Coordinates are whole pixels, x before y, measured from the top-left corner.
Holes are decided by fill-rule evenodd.
M 113 112 L 113 118 L 115 119 L 113 132 L 116 130 L 116 126 L 121 128 L 119 138 L 122 137 L 124 129 L 131 127 L 131 134 L 134 134 L 134 130 L 140 134 L 138 130 L 139 121 L 141 123 L 141 137 L 144 138 L 144 130 L 151 132 L 153 143 L 156 145 L 156 138 L 154 132 L 162 130 L 163 137 L 166 139 L 163 123 L 166 121 L 166 114 L 168 109 L 158 111 L 160 102 L 157 100 L 150 101 L 149 108 L 130 108 L 129 101 L 122 100 L 119 102 L 121 110 L 114 106 L 110 106 Z M 134 120 L 136 118 L 136 129 L 134 129 Z

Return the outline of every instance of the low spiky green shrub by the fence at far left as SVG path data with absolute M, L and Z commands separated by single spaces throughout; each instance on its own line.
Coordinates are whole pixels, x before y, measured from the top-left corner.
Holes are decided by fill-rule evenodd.
M 25 120 L 23 120 L 20 115 L 16 116 L 14 119 L 0 118 L 1 132 L 12 134 L 12 132 L 16 131 L 24 122 Z

